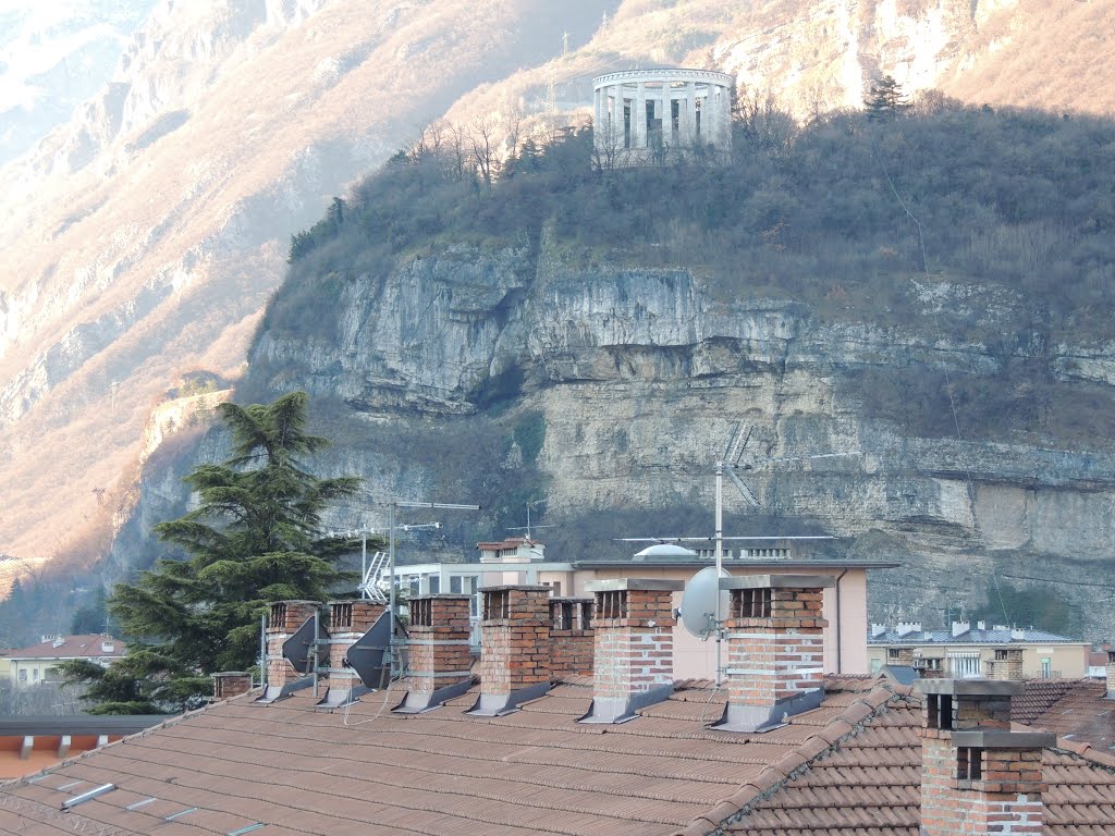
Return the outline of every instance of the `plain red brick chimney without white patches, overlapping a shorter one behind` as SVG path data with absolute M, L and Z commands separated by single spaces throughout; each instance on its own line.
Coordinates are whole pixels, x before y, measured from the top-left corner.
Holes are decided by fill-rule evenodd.
M 550 690 L 550 587 L 481 592 L 481 696 L 468 713 L 501 717 Z

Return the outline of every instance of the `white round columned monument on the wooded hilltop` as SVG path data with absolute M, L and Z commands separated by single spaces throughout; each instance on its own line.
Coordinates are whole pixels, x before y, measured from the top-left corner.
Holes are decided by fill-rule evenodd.
M 665 159 L 673 149 L 731 150 L 735 78 L 711 70 L 661 68 L 592 79 L 593 143 L 608 165 Z

